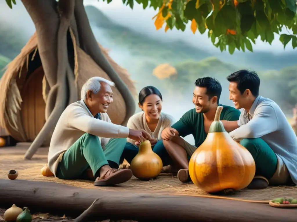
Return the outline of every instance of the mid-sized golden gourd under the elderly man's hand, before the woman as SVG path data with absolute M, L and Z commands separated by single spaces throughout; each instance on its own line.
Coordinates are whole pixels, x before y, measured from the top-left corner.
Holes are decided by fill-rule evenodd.
M 140 143 L 138 154 L 130 165 L 133 175 L 140 180 L 159 176 L 163 167 L 161 158 L 153 152 L 149 140 Z

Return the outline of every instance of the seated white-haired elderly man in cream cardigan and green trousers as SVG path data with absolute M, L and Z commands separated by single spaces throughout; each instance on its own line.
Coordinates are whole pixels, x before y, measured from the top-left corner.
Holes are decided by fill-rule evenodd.
M 61 114 L 48 152 L 48 166 L 56 177 L 83 179 L 91 170 L 95 186 L 120 184 L 132 177 L 130 169 L 119 169 L 127 137 L 143 141 L 151 136 L 111 123 L 106 113 L 113 102 L 110 86 L 114 83 L 104 78 L 90 78 L 81 89 L 81 100 Z

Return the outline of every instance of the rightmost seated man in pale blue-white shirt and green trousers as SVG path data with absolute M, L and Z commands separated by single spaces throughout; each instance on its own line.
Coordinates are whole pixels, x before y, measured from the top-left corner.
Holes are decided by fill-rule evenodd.
M 256 163 L 251 189 L 297 184 L 297 137 L 280 107 L 259 96 L 257 73 L 239 70 L 227 77 L 230 99 L 243 108 L 229 135 L 249 150 Z

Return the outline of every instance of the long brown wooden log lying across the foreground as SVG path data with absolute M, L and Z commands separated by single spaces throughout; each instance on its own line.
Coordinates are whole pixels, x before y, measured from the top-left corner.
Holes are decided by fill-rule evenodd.
M 120 185 L 119 185 L 120 186 Z M 124 185 L 121 185 L 124 186 Z M 0 179 L 0 207 L 12 204 L 51 213 L 83 213 L 98 198 L 92 215 L 136 221 L 296 222 L 296 209 L 203 197 L 85 189 L 54 182 Z

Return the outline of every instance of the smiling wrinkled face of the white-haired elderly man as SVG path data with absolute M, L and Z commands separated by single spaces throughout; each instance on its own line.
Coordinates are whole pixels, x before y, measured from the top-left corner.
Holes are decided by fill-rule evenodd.
M 97 94 L 91 90 L 87 92 L 87 101 L 91 113 L 93 115 L 98 112 L 107 112 L 109 105 L 113 102 L 113 91 L 110 85 L 105 82 L 100 82 L 101 87 Z

